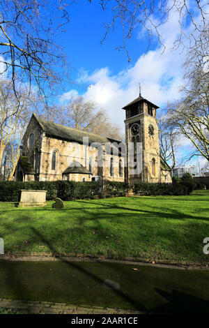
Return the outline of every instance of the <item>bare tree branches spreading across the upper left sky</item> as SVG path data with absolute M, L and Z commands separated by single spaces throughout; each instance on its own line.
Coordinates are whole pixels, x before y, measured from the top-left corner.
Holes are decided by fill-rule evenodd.
M 63 0 L 0 1 L 0 73 L 11 76 L 15 94 L 20 80 L 36 85 L 44 97 L 61 81 L 56 67 L 65 57 L 53 39 L 65 22 Z

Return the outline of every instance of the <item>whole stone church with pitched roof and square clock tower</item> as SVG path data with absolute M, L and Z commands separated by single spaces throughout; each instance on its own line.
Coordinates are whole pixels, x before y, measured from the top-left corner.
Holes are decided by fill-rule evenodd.
M 15 180 L 171 182 L 171 168 L 160 157 L 157 108 L 141 95 L 123 107 L 125 142 L 33 114 L 22 138 Z

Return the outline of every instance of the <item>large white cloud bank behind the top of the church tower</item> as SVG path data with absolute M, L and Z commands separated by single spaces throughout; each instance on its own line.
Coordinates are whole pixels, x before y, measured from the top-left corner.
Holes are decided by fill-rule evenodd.
M 149 51 L 117 75 L 112 75 L 109 68 L 100 68 L 93 73 L 82 69 L 79 82 L 88 85 L 82 96 L 94 100 L 98 107 L 107 110 L 111 121 L 123 127 L 125 112 L 121 108 L 139 96 L 139 82 L 142 96 L 156 105 L 162 106 L 178 98 L 182 83 L 181 56 L 173 52 L 161 54 L 161 49 Z M 62 98 L 70 99 L 72 95 L 77 95 L 75 89 Z

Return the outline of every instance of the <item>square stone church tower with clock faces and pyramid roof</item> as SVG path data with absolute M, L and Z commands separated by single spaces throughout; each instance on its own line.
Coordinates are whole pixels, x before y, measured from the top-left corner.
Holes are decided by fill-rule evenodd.
M 125 110 L 125 142 L 127 147 L 126 180 L 160 182 L 160 149 L 157 105 L 141 97 L 123 107 Z M 138 167 L 138 170 L 136 168 Z

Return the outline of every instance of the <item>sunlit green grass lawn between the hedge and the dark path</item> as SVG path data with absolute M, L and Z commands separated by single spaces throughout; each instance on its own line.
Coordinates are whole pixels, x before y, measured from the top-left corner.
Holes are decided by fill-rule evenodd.
M 79 254 L 208 263 L 209 191 L 187 196 L 118 197 L 20 208 L 0 202 L 5 253 Z

